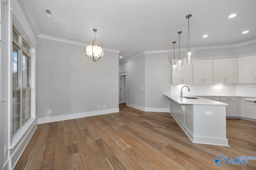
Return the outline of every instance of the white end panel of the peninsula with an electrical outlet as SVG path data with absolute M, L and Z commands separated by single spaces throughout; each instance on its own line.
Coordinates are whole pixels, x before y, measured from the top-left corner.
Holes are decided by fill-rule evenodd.
M 212 115 L 206 115 L 206 111 Z M 226 106 L 194 105 L 194 143 L 228 146 Z

